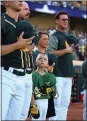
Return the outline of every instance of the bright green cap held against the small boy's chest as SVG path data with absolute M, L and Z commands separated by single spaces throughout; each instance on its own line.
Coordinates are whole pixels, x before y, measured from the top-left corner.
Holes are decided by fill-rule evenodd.
M 45 85 L 52 87 L 56 84 L 56 78 L 52 73 L 46 73 L 45 75 L 43 75 L 43 82 Z M 41 81 L 39 81 L 39 85 L 43 86 Z

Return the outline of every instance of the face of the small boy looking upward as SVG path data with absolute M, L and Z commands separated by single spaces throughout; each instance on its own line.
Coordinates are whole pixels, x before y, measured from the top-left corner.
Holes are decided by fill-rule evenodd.
M 39 54 L 39 56 L 36 59 L 36 65 L 37 67 L 45 68 L 48 65 L 47 55 Z

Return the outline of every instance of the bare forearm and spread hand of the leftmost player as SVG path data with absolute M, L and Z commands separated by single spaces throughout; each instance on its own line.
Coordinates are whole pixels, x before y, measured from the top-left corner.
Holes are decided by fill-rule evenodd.
M 18 38 L 18 41 L 16 43 L 13 44 L 9 44 L 9 45 L 2 45 L 1 47 L 1 55 L 6 55 L 8 53 L 11 53 L 17 49 L 24 49 L 26 48 L 29 44 L 32 43 L 32 39 L 34 37 L 31 37 L 29 39 L 23 39 L 23 34 L 21 33 L 20 37 Z

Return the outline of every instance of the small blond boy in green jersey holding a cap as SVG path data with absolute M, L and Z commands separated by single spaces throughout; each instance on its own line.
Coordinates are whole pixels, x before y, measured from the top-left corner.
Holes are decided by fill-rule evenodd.
M 33 96 L 32 104 L 37 104 L 40 112 L 38 120 L 46 120 L 48 109 L 48 99 L 51 94 L 54 94 L 56 79 L 51 73 L 45 72 L 48 65 L 48 57 L 46 54 L 40 53 L 36 58 L 37 70 L 32 74 L 33 79 Z M 35 99 L 35 101 L 34 101 Z M 35 120 L 34 118 L 32 118 Z

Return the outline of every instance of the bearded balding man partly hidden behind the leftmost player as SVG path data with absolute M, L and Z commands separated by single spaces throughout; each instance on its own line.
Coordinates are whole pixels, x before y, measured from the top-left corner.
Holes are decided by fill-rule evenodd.
M 22 31 L 24 31 L 24 38 L 29 38 L 31 36 L 35 36 L 35 39 L 33 39 L 32 44 L 29 45 L 29 48 L 27 47 L 26 49 L 22 49 L 23 52 L 23 58 L 24 58 L 24 67 L 26 68 L 26 73 L 28 76 L 31 77 L 31 73 L 34 69 L 33 65 L 33 58 L 32 58 L 32 49 L 33 49 L 33 43 L 36 44 L 38 40 L 38 36 L 35 33 L 32 24 L 29 21 L 30 17 L 30 9 L 29 5 L 24 2 L 23 4 L 23 9 L 19 12 L 19 19 L 20 22 L 17 25 L 16 31 L 17 31 L 17 36 L 20 35 Z M 26 86 L 25 90 L 25 101 L 24 101 L 24 106 L 23 110 L 20 116 L 20 120 L 24 120 L 25 116 L 27 116 L 27 112 L 30 108 L 30 102 L 31 102 L 31 97 L 32 97 L 32 78 L 29 80 L 30 86 L 29 88 Z M 27 105 L 29 103 L 29 106 Z

